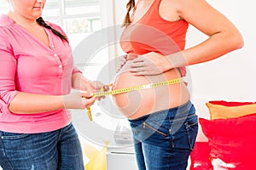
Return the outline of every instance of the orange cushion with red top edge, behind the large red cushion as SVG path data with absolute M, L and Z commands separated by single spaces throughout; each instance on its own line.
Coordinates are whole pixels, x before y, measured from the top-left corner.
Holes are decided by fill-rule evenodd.
M 256 113 L 256 104 L 253 102 L 209 101 L 206 105 L 211 120 L 235 118 Z

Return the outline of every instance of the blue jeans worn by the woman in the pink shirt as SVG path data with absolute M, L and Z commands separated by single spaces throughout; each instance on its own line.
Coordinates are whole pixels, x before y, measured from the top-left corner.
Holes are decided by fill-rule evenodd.
M 3 170 L 84 170 L 78 134 L 72 124 L 49 133 L 0 131 Z

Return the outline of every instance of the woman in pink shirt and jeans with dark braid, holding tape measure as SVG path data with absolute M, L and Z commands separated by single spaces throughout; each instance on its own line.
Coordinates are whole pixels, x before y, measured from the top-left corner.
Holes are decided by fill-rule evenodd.
M 0 167 L 6 170 L 84 169 L 66 109 L 90 107 L 103 85 L 74 67 L 65 33 L 41 18 L 45 2 L 9 0 L 11 10 L 0 16 Z

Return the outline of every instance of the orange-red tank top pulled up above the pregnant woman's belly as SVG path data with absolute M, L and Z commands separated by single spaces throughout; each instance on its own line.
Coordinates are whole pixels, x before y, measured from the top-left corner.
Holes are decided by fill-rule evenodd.
M 160 2 L 155 0 L 140 20 L 126 26 L 120 37 L 120 46 L 125 53 L 168 55 L 184 49 L 189 23 L 186 20 L 164 20 L 159 14 Z M 185 68 L 179 69 L 184 76 Z

